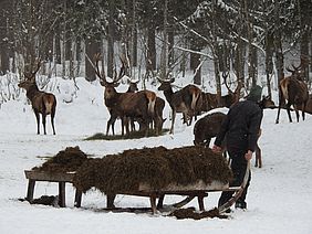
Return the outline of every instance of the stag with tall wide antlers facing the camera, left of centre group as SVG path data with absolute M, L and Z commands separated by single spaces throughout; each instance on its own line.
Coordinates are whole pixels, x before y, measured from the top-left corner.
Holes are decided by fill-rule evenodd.
M 116 87 L 118 81 L 122 78 L 114 77 L 113 82 L 107 82 L 104 72 L 100 72 L 98 61 L 100 54 L 95 55 L 95 74 L 101 79 L 101 85 L 104 89 L 104 103 L 108 108 L 113 118 L 119 117 L 122 119 L 122 135 L 124 136 L 124 126 L 126 126 L 126 134 L 129 136 L 128 126 L 125 124 L 125 117 L 141 118 L 145 127 L 145 136 L 148 134 L 148 120 L 154 116 L 154 107 L 156 102 L 156 94 L 150 91 L 138 93 L 118 93 Z

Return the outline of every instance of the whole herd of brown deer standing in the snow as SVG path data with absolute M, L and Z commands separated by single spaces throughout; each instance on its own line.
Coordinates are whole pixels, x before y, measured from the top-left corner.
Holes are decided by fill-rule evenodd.
M 165 100 L 157 96 L 153 91 L 138 91 L 137 82 L 129 81 L 128 91 L 119 93 L 116 91 L 121 79 L 125 75 L 125 63 L 122 61 L 122 67 L 117 74 L 115 71 L 112 82 L 106 79 L 104 70 L 100 71 L 101 55 L 94 56 L 94 71 L 101 81 L 101 85 L 104 87 L 104 104 L 110 111 L 110 119 L 106 126 L 106 135 L 112 128 L 112 134 L 115 135 L 114 125 L 116 119 L 122 121 L 122 136 L 129 136 L 135 130 L 135 121 L 138 123 L 139 131 L 147 136 L 148 130 L 152 128 L 156 135 L 160 135 L 163 130 L 163 124 L 166 119 L 163 117 L 165 108 Z M 262 97 L 260 106 L 262 108 L 278 108 L 278 116 L 275 123 L 279 123 L 280 110 L 285 108 L 289 117 L 289 121 L 292 121 L 290 108 L 291 106 L 295 110 L 297 121 L 299 121 L 299 110 L 302 111 L 302 119 L 305 118 L 305 113 L 312 114 L 312 96 L 309 96 L 308 85 L 303 81 L 303 67 L 301 65 L 292 65 L 292 70 L 287 67 L 287 71 L 291 73 L 290 76 L 285 76 L 279 83 L 279 106 L 275 107 L 274 103 L 269 96 Z M 42 92 L 38 88 L 35 83 L 35 74 L 40 70 L 40 62 L 32 72 L 24 73 L 24 81 L 19 83 L 19 87 L 25 89 L 27 97 L 31 102 L 32 109 L 37 118 L 37 132 L 40 134 L 40 114 L 42 115 L 42 125 L 44 135 L 46 115 L 51 115 L 51 125 L 53 134 L 54 116 L 56 108 L 56 98 L 51 93 Z M 201 92 L 196 85 L 187 85 L 181 89 L 174 92 L 173 83 L 174 78 L 160 79 L 158 91 L 164 93 L 164 96 L 171 108 L 171 125 L 170 134 L 174 132 L 176 114 L 183 114 L 184 124 L 190 125 L 193 118 L 197 119 L 197 115 L 209 111 L 217 107 L 230 107 L 233 103 L 240 98 L 240 92 L 237 88 L 232 92 L 226 82 L 228 74 L 223 74 L 225 84 L 228 88 L 228 95 L 221 96 L 218 102 L 217 95 L 211 93 Z M 204 145 L 209 147 L 210 139 L 216 137 L 216 134 L 221 125 L 223 114 L 207 115 L 199 119 L 194 127 L 195 145 Z M 131 129 L 129 129 L 131 126 Z M 261 134 L 260 134 L 261 135 Z M 259 137 L 260 137 L 259 135 Z M 261 150 L 258 147 L 259 155 Z M 261 159 L 261 157 L 260 157 Z M 257 161 L 258 163 L 258 161 Z M 259 167 L 261 167 L 261 161 Z

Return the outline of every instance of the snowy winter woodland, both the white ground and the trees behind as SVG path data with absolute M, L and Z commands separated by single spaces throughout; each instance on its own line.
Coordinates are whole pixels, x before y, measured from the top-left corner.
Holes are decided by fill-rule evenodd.
M 251 169 L 249 208 L 228 220 L 105 212 L 105 196 L 97 191 L 85 194 L 82 208 L 75 209 L 70 184 L 66 209 L 18 201 L 27 190 L 23 170 L 69 146 L 103 157 L 129 148 L 193 145 L 194 124 L 187 127 L 179 119 L 174 135 L 85 141 L 104 132 L 110 118 L 89 62 L 96 52 L 104 55 L 110 77 L 121 66 L 119 56 L 126 57 L 127 75 L 139 79 L 139 88 L 157 92 L 155 77 L 170 75 L 176 88 L 195 83 L 220 96 L 227 92 L 222 74 L 230 72 L 232 89 L 239 86 L 246 93 L 257 83 L 277 103 L 278 81 L 292 64 L 303 65 L 311 93 L 311 0 L 1 0 L 0 11 L 1 233 L 311 233 L 312 118 L 289 124 L 282 111 L 275 125 L 274 109 L 264 110 L 263 168 Z M 44 64 L 37 76 L 40 88 L 58 98 L 56 136 L 51 136 L 49 119 L 48 135 L 35 135 L 31 106 L 17 86 L 38 60 Z M 122 84 L 118 91 L 126 88 Z M 168 104 L 165 117 L 167 128 Z M 38 183 L 35 196 L 56 191 L 54 183 Z M 205 206 L 216 206 L 218 198 L 218 192 L 209 194 Z M 117 196 L 116 204 L 147 206 L 148 200 Z M 196 202 L 190 205 L 197 208 Z

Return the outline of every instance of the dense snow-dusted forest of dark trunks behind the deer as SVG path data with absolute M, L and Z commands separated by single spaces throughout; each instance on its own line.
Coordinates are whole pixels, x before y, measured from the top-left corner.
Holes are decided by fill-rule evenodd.
M 212 79 L 218 97 L 229 72 L 249 89 L 263 71 L 269 95 L 290 65 L 311 84 L 311 0 L 1 0 L 0 9 L 2 75 L 23 77 L 41 61 L 48 77 L 94 81 L 100 52 L 110 77 L 122 61 L 143 82 L 190 73 L 197 85 Z

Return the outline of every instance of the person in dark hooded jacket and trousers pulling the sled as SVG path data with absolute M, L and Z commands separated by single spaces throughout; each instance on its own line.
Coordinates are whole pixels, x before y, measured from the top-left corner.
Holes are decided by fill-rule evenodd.
M 240 185 L 243 181 L 247 162 L 252 158 L 256 149 L 258 132 L 262 120 L 262 109 L 257 104 L 261 99 L 262 88 L 254 86 L 251 88 L 246 100 L 233 104 L 226 119 L 222 121 L 221 129 L 216 137 L 212 150 L 221 151 L 222 141 L 226 138 L 226 147 L 231 159 L 231 170 L 233 172 L 233 181 L 230 185 Z M 250 183 L 248 183 L 242 195 L 236 202 L 236 208 L 247 209 L 246 195 Z M 218 202 L 218 206 L 225 204 L 233 192 L 222 192 Z

